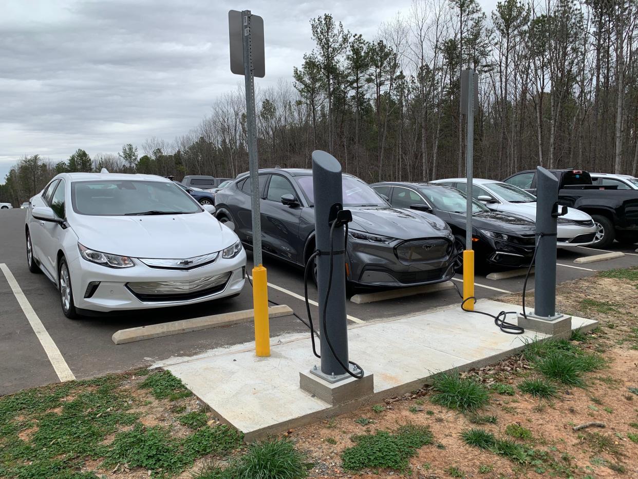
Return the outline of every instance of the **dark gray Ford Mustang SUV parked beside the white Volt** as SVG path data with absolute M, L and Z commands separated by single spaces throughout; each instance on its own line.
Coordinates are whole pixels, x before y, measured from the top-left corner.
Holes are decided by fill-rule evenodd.
M 264 254 L 303 267 L 315 251 L 312 170 L 259 171 Z M 401 287 L 454 275 L 454 236 L 445 222 L 422 211 L 392 208 L 366 183 L 343 174 L 343 206 L 352 211 L 346 249 L 350 285 Z M 216 216 L 233 222 L 251 247 L 251 183 L 236 179 L 216 197 Z

